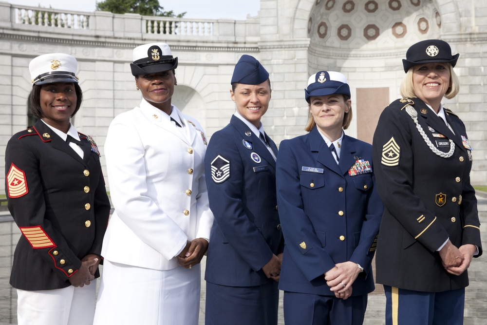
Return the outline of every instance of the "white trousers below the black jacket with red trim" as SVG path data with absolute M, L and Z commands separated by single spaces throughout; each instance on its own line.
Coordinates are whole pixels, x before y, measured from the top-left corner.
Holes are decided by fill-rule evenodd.
M 92 325 L 96 279 L 84 287 L 27 291 L 17 289 L 19 325 Z

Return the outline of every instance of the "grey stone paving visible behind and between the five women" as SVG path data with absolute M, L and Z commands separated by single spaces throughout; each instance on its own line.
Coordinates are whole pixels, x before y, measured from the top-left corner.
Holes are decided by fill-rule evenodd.
M 482 227 L 482 245 L 487 248 L 487 193 L 479 193 L 479 215 Z M 8 280 L 12 256 L 20 231 L 8 211 L 0 211 L 0 325 L 17 324 L 17 293 Z M 202 261 L 204 273 L 205 260 Z M 468 270 L 470 286 L 465 302 L 465 325 L 485 325 L 487 321 L 487 256 L 474 259 Z M 369 295 L 365 325 L 381 325 L 384 321 L 385 297 L 382 286 L 377 285 Z M 205 281 L 202 281 L 200 322 L 205 324 Z M 284 324 L 282 296 L 279 307 L 279 324 Z

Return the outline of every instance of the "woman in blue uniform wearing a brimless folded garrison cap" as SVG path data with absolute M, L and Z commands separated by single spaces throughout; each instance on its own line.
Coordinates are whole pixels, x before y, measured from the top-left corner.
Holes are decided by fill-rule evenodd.
M 211 137 L 205 157 L 215 215 L 206 258 L 205 324 L 277 324 L 283 249 L 276 201 L 277 147 L 261 117 L 269 74 L 254 57 L 235 65 L 230 123 Z

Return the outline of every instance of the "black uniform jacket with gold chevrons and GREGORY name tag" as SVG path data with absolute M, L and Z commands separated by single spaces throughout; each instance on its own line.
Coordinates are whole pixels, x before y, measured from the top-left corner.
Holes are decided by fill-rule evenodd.
M 433 153 L 407 113 L 440 152 Z M 479 247 L 480 222 L 465 125 L 450 110 L 448 124 L 418 98 L 398 99 L 384 109 L 374 134 L 374 161 L 385 210 L 377 240 L 377 283 L 408 290 L 440 292 L 468 286 L 468 272 L 448 273 L 436 251 L 446 240 L 456 247 Z M 462 138 L 463 137 L 463 138 Z

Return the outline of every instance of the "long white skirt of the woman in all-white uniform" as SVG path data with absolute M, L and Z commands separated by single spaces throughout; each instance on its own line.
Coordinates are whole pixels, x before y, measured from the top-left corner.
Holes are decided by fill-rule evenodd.
M 197 325 L 200 264 L 154 270 L 103 262 L 94 325 Z

